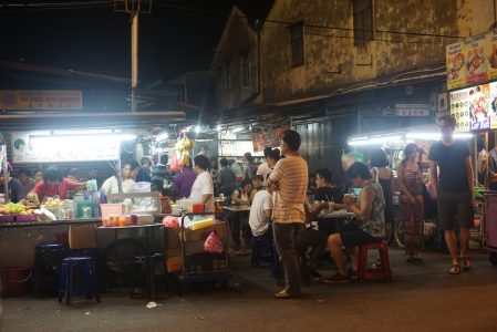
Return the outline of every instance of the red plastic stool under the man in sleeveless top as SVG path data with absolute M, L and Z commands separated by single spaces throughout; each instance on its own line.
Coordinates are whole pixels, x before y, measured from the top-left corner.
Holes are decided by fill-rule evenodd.
M 367 250 L 377 249 L 380 252 L 381 267 L 367 268 Z M 359 280 L 364 282 L 366 279 L 386 279 L 392 281 L 392 270 L 390 269 L 389 247 L 385 241 L 380 243 L 372 243 L 359 247 L 359 262 L 358 262 Z

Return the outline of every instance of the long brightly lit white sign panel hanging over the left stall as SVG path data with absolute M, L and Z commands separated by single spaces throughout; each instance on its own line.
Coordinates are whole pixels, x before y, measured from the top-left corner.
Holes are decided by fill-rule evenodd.
M 118 160 L 121 141 L 99 135 L 51 135 L 50 132 L 12 133 L 13 163 Z

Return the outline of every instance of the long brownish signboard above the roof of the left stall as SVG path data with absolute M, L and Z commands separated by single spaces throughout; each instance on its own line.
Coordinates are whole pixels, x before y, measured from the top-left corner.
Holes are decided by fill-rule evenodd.
M 0 110 L 82 110 L 81 91 L 0 90 Z

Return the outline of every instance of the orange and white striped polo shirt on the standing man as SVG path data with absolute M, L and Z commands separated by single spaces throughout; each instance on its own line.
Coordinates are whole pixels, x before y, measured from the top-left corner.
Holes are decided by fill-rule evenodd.
M 273 193 L 275 222 L 304 222 L 303 204 L 309 184 L 307 162 L 300 155 L 284 157 L 276 164 L 269 179 L 278 184 L 278 190 Z

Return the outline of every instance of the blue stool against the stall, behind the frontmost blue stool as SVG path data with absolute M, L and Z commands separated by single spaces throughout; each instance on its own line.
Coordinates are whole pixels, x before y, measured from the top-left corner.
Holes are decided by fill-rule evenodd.
M 38 245 L 34 248 L 33 290 L 34 294 L 58 291 L 59 272 L 66 248 L 62 243 Z

